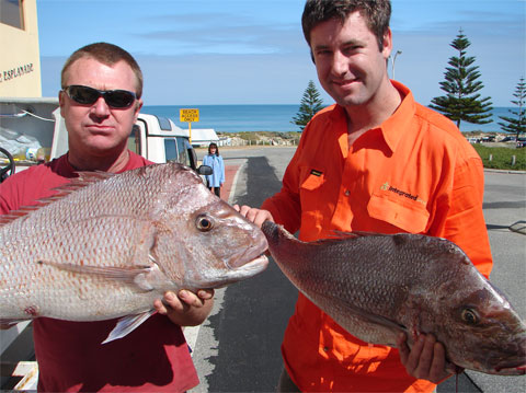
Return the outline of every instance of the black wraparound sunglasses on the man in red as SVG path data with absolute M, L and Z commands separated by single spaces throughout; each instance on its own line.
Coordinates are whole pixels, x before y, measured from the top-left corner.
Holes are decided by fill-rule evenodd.
M 134 92 L 127 90 L 96 90 L 80 84 L 71 84 L 64 91 L 71 100 L 82 105 L 93 105 L 102 96 L 108 106 L 126 108 L 137 99 Z

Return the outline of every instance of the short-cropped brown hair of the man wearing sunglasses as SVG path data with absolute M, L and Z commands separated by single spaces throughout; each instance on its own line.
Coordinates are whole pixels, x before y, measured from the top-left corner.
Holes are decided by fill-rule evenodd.
M 137 79 L 137 85 L 135 94 L 137 99 L 142 95 L 142 71 L 134 57 L 124 50 L 122 47 L 108 44 L 108 43 L 94 43 L 85 45 L 80 49 L 73 51 L 73 54 L 66 60 L 62 72 L 60 73 L 60 84 L 62 89 L 66 89 L 66 73 L 71 65 L 82 58 L 93 58 L 104 65 L 113 66 L 118 61 L 125 61 L 134 71 Z

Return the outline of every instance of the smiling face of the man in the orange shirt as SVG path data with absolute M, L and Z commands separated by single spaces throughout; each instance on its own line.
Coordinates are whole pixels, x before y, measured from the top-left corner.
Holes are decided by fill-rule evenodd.
M 359 12 L 351 13 L 343 25 L 335 19 L 320 23 L 310 42 L 320 83 L 340 105 L 367 104 L 387 80 L 390 31 L 380 51 Z

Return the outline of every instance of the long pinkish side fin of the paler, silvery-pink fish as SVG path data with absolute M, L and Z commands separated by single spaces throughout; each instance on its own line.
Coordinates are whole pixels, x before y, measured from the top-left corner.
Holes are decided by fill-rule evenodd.
M 151 276 L 159 277 L 159 268 L 157 266 L 132 266 L 132 267 L 113 267 L 113 266 L 91 266 L 91 265 L 73 265 L 60 264 L 55 262 L 39 261 L 44 265 L 49 265 L 61 270 L 100 276 L 117 281 L 125 281 L 127 284 L 136 285 L 141 290 L 150 291 L 155 287 L 151 284 Z

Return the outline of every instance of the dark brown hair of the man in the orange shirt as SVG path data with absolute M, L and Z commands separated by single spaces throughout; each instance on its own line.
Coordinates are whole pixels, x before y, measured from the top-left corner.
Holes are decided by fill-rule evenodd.
M 331 19 L 340 20 L 343 24 L 348 14 L 355 11 L 359 11 L 367 21 L 367 26 L 376 35 L 381 51 L 384 35 L 389 28 L 391 19 L 390 0 L 307 0 L 301 15 L 305 39 L 310 46 L 310 32 L 318 24 Z

